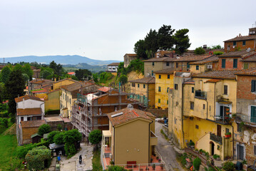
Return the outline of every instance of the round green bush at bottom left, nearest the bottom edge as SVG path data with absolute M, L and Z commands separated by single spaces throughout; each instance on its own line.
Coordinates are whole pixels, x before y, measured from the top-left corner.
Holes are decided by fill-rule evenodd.
M 45 162 L 51 160 L 51 150 L 47 147 L 34 147 L 26 154 L 25 160 L 28 162 L 29 170 L 43 170 Z

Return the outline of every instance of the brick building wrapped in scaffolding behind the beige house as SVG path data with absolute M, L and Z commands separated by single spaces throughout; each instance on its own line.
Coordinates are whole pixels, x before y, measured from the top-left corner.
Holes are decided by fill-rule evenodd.
M 88 138 L 92 130 L 108 130 L 107 113 L 126 108 L 128 104 L 138 108 L 140 103 L 127 96 L 128 93 L 108 87 L 98 88 L 96 93 L 82 90 L 73 103 L 71 123 L 84 138 Z

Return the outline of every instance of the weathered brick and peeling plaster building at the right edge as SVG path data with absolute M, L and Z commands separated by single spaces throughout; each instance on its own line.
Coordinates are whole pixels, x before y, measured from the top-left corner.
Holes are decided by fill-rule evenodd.
M 256 68 L 237 75 L 237 112 L 235 113 L 235 150 L 237 160 L 253 165 L 256 155 Z

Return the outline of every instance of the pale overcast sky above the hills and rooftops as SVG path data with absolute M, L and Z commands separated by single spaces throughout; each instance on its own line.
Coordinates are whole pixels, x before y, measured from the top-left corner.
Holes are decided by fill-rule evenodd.
M 0 0 L 0 58 L 80 55 L 123 61 L 163 24 L 188 28 L 191 46 L 223 41 L 256 21 L 255 0 Z

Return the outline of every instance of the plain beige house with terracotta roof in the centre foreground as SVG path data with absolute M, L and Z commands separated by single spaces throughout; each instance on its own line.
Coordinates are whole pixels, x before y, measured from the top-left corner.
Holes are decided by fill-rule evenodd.
M 109 130 L 103 130 L 103 147 L 109 144 L 115 165 L 150 163 L 158 144 L 155 116 L 143 110 L 124 108 L 108 113 Z

